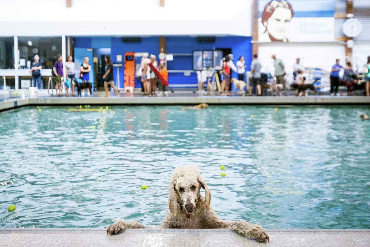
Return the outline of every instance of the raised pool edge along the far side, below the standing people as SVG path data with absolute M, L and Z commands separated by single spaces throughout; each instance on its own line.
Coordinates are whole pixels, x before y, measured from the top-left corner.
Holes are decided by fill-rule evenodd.
M 44 98 L 26 98 L 9 99 L 0 102 L 0 111 L 11 110 L 17 107 L 28 105 L 185 105 L 185 104 L 225 104 L 225 105 L 305 105 L 305 104 L 370 104 L 370 97 L 365 96 L 309 96 L 309 97 L 44 97 Z

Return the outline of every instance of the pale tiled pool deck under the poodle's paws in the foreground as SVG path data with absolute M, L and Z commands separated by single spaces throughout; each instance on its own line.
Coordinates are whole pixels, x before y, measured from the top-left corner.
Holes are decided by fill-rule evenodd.
M 270 243 L 258 243 L 226 229 L 128 229 L 107 236 L 105 229 L 0 228 L 0 246 L 125 247 L 362 247 L 370 246 L 370 230 L 265 229 Z

